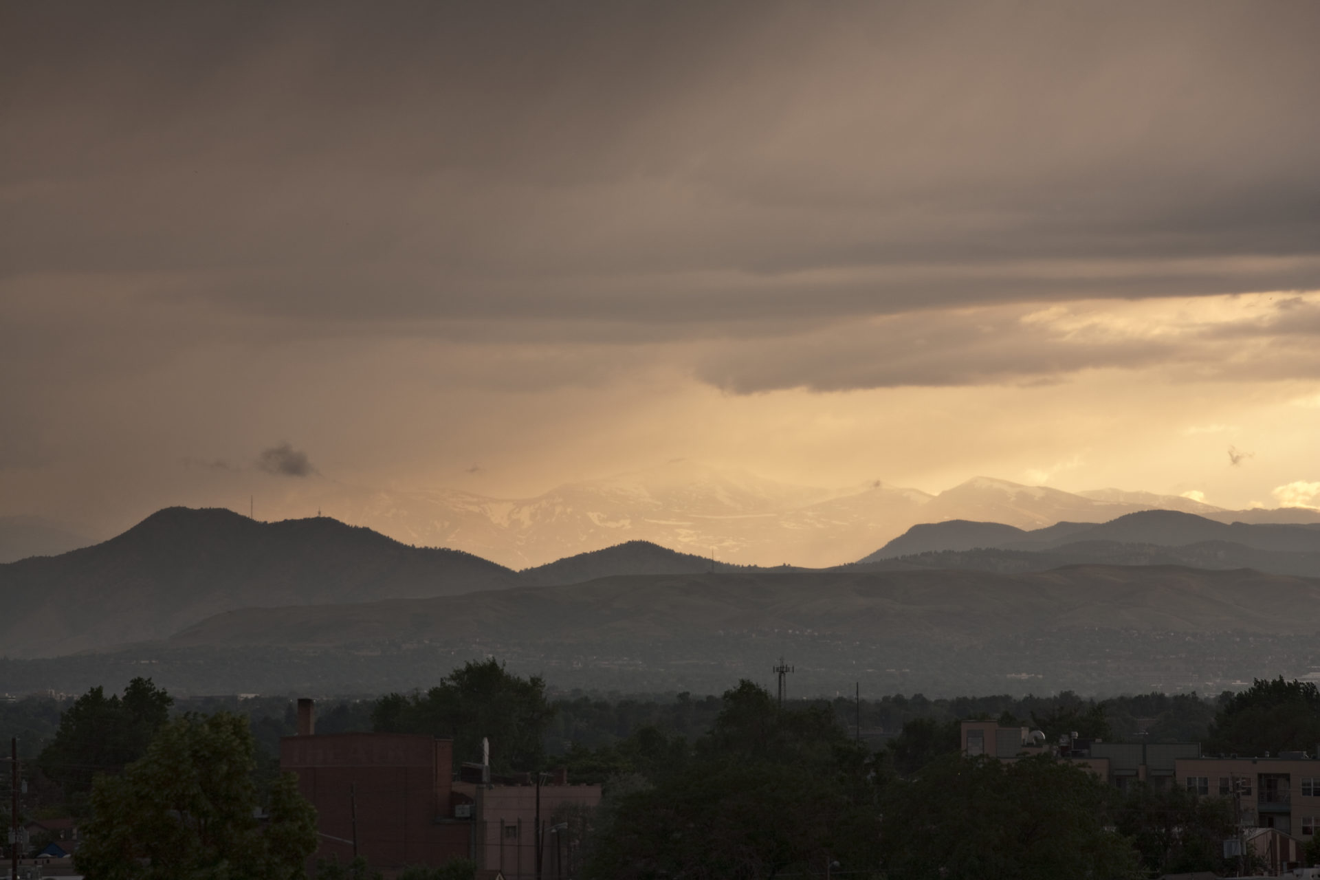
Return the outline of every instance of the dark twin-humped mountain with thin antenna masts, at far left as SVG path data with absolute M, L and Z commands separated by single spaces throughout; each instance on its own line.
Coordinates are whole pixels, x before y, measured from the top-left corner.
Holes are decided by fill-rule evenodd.
M 103 544 L 0 565 L 0 644 L 12 657 L 49 657 L 162 639 L 231 608 L 515 583 L 513 571 L 469 553 L 411 548 L 329 517 L 257 522 L 166 508 Z

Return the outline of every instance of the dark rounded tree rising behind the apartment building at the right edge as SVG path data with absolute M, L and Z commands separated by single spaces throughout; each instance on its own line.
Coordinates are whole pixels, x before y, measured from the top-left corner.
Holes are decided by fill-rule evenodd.
M 1257 678 L 1225 694 L 1210 727 L 1210 749 L 1238 755 L 1308 751 L 1320 743 L 1320 689 L 1313 682 Z

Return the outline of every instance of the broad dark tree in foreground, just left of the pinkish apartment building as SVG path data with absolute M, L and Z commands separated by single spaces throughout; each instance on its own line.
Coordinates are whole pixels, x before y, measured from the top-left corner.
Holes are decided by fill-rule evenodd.
M 1047 756 L 940 759 L 883 788 L 886 877 L 1139 877 L 1129 839 L 1106 829 L 1107 801 L 1104 782 Z

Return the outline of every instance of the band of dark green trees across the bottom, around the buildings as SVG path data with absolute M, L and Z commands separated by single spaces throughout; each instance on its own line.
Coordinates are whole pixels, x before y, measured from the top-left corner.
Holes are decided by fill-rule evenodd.
M 983 699 L 941 708 L 1119 739 L 1113 701 Z M 1320 691 L 1311 682 L 1259 679 L 1213 703 L 1126 699 L 1147 723 L 1160 711 L 1185 720 L 1209 707 L 1210 752 L 1320 743 Z M 1220 842 L 1234 822 L 1225 800 L 1118 792 L 1048 757 L 968 759 L 956 718 L 923 714 L 931 706 L 917 698 L 890 698 L 887 707 L 912 715 L 876 747 L 849 726 L 838 701 L 780 706 L 746 681 L 718 698 L 550 701 L 543 679 L 487 660 L 428 691 L 341 703 L 322 719 L 338 712 L 346 726 L 451 736 L 455 760 L 475 757 L 480 739 L 498 732 L 496 772 L 568 767 L 574 781 L 602 782 L 585 842 L 590 877 L 1133 877 L 1226 867 Z M 58 786 L 51 809 L 87 817 L 78 867 L 116 880 L 302 877 L 314 814 L 292 774 L 263 763 L 260 719 L 174 708 L 162 689 L 136 678 L 121 695 L 91 689 L 59 715 L 36 764 Z M 597 738 L 565 738 L 553 753 L 554 730 Z M 473 868 L 418 867 L 413 876 L 450 880 Z M 370 876 L 364 864 L 318 868 L 321 880 Z

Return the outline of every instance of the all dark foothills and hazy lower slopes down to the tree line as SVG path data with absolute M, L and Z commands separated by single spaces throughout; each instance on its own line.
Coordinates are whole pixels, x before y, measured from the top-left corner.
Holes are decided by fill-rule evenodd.
M 492 654 L 577 686 L 718 687 L 783 652 L 826 689 L 863 674 L 941 691 L 1320 677 L 1320 524 L 1137 511 L 1039 525 L 1068 497 L 973 482 L 923 509 L 1015 511 L 1036 528 L 917 524 L 829 569 L 632 540 L 515 571 L 325 516 L 166 508 L 110 541 L 0 565 L 0 687 L 83 687 L 147 662 L 203 693 L 372 691 Z

